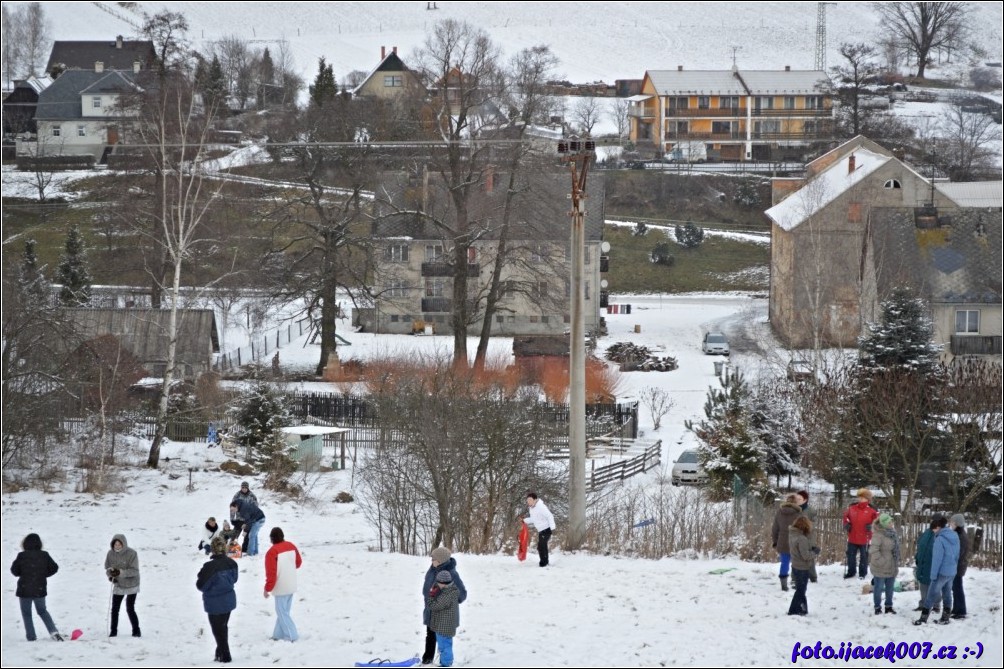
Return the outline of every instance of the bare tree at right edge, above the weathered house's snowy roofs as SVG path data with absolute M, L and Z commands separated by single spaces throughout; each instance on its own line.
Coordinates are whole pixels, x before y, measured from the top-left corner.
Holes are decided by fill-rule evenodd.
M 952 181 L 971 181 L 980 174 L 999 172 L 994 145 L 1001 132 L 990 115 L 967 110 L 962 100 L 956 100 L 946 107 L 939 125 L 938 164 Z

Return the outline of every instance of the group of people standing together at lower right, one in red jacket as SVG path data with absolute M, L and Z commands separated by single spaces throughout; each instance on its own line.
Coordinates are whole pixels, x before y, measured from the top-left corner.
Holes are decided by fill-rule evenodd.
M 894 518 L 880 513 L 871 503 L 867 488 L 857 491 L 857 500 L 843 513 L 847 533 L 844 579 L 865 579 L 871 571 L 871 598 L 875 615 L 895 614 L 893 594 L 902 561 L 900 536 Z M 789 616 L 808 613 L 806 590 L 816 582 L 815 561 L 819 547 L 813 535 L 814 512 L 808 505 L 809 494 L 799 490 L 788 495 L 774 515 L 771 528 L 773 547 L 780 559 L 778 577 L 781 590 L 788 590 L 789 572 L 795 593 L 788 607 Z M 947 528 L 947 529 L 946 529 Z M 918 539 L 915 576 L 920 584 L 921 618 L 915 625 L 928 622 L 932 611 L 944 606 L 935 622 L 946 625 L 953 618 L 966 617 L 966 595 L 962 579 L 969 560 L 969 534 L 961 513 L 948 520 L 937 515 L 930 528 Z

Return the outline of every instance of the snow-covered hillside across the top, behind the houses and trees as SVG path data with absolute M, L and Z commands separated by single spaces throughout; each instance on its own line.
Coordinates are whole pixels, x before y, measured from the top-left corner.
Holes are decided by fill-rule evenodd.
M 113 39 L 136 28 L 136 13 L 119 3 L 45 3 L 55 39 Z M 126 4 L 126 3 L 121 3 Z M 134 4 L 134 3 L 129 3 Z M 438 20 L 455 18 L 487 30 L 506 54 L 549 44 L 572 81 L 641 78 L 646 69 L 725 69 L 736 62 L 747 69 L 811 69 L 814 62 L 815 2 L 736 2 L 728 11 L 699 2 L 584 2 L 574 6 L 547 2 L 438 2 L 428 11 L 412 2 L 174 2 L 135 3 L 148 12 L 167 7 L 183 12 L 197 46 L 221 37 L 289 41 L 297 67 L 312 77 L 317 58 L 333 63 L 339 78 L 369 71 L 380 47 L 398 46 L 406 62 Z M 974 42 L 987 58 L 1001 60 L 1001 3 L 972 3 Z M 876 37 L 876 18 L 868 3 L 842 2 L 828 8 L 827 61 L 834 64 L 843 41 Z M 956 63 L 958 65 L 960 63 Z M 953 65 L 955 67 L 956 65 Z M 932 76 L 944 72 L 935 67 Z

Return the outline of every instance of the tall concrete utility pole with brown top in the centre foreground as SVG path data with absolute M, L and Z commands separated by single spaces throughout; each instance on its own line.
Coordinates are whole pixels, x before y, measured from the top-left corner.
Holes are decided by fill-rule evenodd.
M 568 534 L 566 547 L 585 540 L 585 179 L 594 142 L 558 143 L 571 173 L 571 334 L 568 343 Z

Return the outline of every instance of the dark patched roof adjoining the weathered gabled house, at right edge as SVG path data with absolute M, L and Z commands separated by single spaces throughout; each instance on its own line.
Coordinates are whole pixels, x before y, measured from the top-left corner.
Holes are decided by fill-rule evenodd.
M 871 212 L 880 299 L 902 285 L 935 303 L 1001 302 L 1001 217 L 985 209 L 939 211 L 938 227 L 917 227 L 912 208 Z

